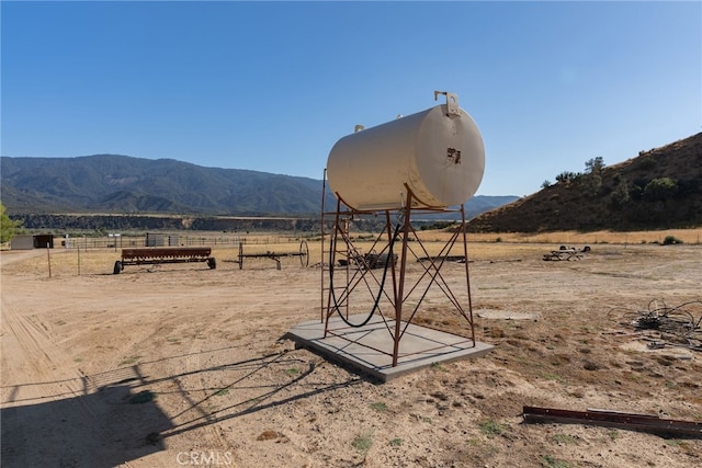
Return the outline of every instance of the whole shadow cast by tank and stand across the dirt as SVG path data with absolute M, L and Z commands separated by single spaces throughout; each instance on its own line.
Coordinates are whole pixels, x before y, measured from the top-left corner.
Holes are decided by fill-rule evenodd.
M 231 352 L 233 347 L 224 347 L 195 354 L 225 356 Z M 346 373 L 340 381 L 312 381 L 317 365 L 294 356 L 298 353 L 307 352 L 291 355 L 283 351 L 158 375 L 155 365 L 181 362 L 184 356 L 179 355 L 80 379 L 3 386 L 11 397 L 0 410 L 0 465 L 114 467 L 165 450 L 168 437 L 363 383 L 362 377 Z M 208 373 L 218 374 L 225 385 L 197 386 Z M 79 383 L 83 393 L 77 396 L 70 388 Z M 163 384 L 170 390 L 159 390 L 166 388 Z M 53 389 L 50 396 L 42 397 L 52 401 L 37 402 L 32 397 L 36 392 L 30 391 L 33 387 Z M 186 408 L 167 414 L 158 399 L 159 395 L 171 397 L 169 393 L 177 393 Z M 211 404 L 213 398 L 217 398 L 216 409 Z

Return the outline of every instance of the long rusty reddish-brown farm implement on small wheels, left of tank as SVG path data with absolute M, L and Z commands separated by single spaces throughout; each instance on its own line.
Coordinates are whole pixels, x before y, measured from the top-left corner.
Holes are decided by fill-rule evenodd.
M 114 274 L 120 274 L 126 265 L 159 265 L 161 263 L 207 262 L 211 270 L 217 267 L 210 247 L 155 247 L 144 249 L 122 249 L 122 260 L 114 262 Z

